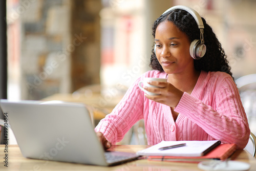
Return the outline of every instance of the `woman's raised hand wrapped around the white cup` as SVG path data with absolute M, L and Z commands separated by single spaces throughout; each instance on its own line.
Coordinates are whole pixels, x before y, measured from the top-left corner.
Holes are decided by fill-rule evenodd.
M 143 89 L 145 89 L 148 92 L 157 93 L 159 95 L 151 96 L 151 95 L 145 94 L 146 98 L 162 104 L 166 104 L 173 108 L 175 108 L 178 105 L 183 95 L 183 92 L 175 88 L 173 84 L 169 82 L 159 82 L 159 81 L 149 81 L 147 83 L 153 86 L 157 86 L 158 88 L 143 87 Z

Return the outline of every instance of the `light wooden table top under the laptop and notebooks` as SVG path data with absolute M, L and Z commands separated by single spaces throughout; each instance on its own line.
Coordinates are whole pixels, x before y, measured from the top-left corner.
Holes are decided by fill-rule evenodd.
M 137 152 L 149 145 L 113 145 L 112 150 L 122 152 Z M 102 167 L 77 163 L 65 163 L 57 161 L 49 161 L 46 164 L 44 160 L 27 159 L 22 156 L 18 145 L 8 145 L 8 167 L 4 166 L 4 149 L 5 145 L 0 145 L 0 170 L 152 170 L 152 171 L 185 171 L 185 170 L 201 170 L 196 163 L 178 163 L 178 162 L 159 162 L 149 161 L 147 159 L 135 160 L 125 164 Z M 249 170 L 256 169 L 256 159 L 248 152 L 240 150 L 236 151 L 231 160 L 250 163 Z

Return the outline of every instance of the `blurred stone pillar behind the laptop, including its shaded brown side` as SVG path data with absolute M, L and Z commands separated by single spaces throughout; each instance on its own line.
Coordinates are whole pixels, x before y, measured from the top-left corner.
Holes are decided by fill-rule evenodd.
M 9 99 L 100 82 L 100 0 L 7 0 Z

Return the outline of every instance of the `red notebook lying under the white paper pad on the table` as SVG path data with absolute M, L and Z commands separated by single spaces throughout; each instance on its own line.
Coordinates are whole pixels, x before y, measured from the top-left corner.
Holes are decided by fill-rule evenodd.
M 148 156 L 148 160 L 154 161 L 172 161 L 199 163 L 204 160 L 217 159 L 225 160 L 236 151 L 236 144 L 220 144 L 209 153 L 200 157 L 179 157 L 179 156 Z

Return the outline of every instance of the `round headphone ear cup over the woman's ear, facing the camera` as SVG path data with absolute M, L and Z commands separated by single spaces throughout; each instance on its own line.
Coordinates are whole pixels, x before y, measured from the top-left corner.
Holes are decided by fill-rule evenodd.
M 194 59 L 201 59 L 201 57 L 205 55 L 206 46 L 200 42 L 200 40 L 195 39 L 190 44 L 189 53 L 190 56 Z

